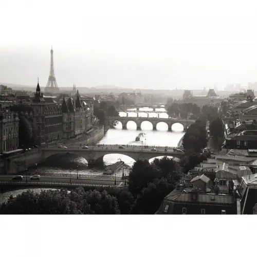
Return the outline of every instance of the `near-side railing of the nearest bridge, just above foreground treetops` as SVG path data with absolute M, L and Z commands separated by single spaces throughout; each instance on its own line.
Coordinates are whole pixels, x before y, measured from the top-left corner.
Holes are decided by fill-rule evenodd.
M 14 181 L 14 180 L 0 180 L 0 185 L 44 185 L 44 186 L 82 186 L 82 187 L 114 187 L 115 185 L 104 185 L 94 183 L 79 183 L 79 182 L 57 182 L 57 181 Z

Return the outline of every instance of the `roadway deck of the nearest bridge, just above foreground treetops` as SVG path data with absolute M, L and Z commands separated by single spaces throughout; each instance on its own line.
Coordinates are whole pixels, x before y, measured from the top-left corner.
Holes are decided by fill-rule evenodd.
M 50 175 L 50 174 L 49 174 Z M 77 175 L 61 174 L 63 176 L 42 175 L 39 180 L 32 180 L 29 176 L 23 175 L 23 180 L 12 180 L 14 175 L 0 175 L 0 185 L 30 185 L 30 186 L 65 186 L 65 187 L 124 187 L 125 180 L 122 177 L 114 176 L 91 176 L 82 175 L 77 178 Z M 67 175 L 64 176 L 64 175 Z M 127 186 L 127 185 L 126 185 Z

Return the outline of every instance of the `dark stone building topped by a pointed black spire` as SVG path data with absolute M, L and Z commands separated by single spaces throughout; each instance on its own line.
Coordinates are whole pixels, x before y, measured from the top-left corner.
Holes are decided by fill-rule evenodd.
M 31 100 L 33 123 L 36 127 L 38 143 L 58 141 L 63 137 L 63 115 L 61 105 L 52 98 L 44 98 L 38 85 Z

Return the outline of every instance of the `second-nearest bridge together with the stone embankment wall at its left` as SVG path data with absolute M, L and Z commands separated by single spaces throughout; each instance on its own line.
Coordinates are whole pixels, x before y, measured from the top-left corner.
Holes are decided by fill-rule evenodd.
M 180 148 L 170 148 L 164 146 L 149 145 L 123 145 L 123 149 L 119 145 L 103 145 L 97 144 L 88 146 L 83 149 L 80 145 L 65 145 L 66 148 L 58 148 L 56 145 L 47 146 L 37 149 L 36 151 L 26 152 L 8 157 L 4 160 L 4 174 L 17 174 L 28 167 L 35 167 L 36 163 L 42 163 L 48 158 L 56 158 L 61 155 L 75 154 L 78 157 L 84 157 L 88 163 L 102 163 L 106 154 L 123 154 L 138 159 L 152 159 L 158 156 L 172 156 L 181 158 L 184 153 Z M 153 151 L 155 148 L 155 151 Z M 69 157 L 69 156 L 67 156 Z

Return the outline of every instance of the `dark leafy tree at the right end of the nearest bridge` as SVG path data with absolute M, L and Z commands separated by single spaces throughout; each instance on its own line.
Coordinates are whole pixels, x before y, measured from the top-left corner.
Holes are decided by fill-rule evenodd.
M 160 172 L 154 168 L 148 160 L 138 160 L 134 163 L 128 176 L 128 190 L 137 196 L 149 182 L 160 176 Z

